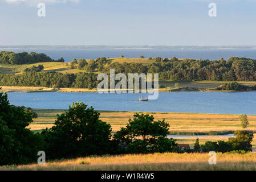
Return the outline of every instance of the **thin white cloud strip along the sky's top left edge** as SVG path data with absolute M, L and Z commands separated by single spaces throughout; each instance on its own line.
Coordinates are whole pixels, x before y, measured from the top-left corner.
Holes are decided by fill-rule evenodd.
M 27 5 L 35 6 L 38 3 L 45 3 L 45 4 L 57 4 L 57 3 L 79 3 L 81 0 L 4 0 L 7 3 L 27 3 Z

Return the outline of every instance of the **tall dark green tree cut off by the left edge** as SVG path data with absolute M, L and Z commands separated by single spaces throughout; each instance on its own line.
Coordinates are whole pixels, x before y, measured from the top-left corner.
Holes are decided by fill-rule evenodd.
M 31 122 L 31 113 L 11 106 L 7 94 L 0 93 L 0 166 L 36 162 L 43 140 L 26 128 Z

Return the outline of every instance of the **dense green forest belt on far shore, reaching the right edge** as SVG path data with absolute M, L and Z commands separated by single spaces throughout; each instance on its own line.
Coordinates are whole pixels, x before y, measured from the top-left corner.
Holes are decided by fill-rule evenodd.
M 116 73 L 159 73 L 160 80 L 172 81 L 255 81 L 256 60 L 230 57 L 228 60 L 178 60 L 156 57 L 152 64 L 108 64 L 103 72 L 115 68 Z

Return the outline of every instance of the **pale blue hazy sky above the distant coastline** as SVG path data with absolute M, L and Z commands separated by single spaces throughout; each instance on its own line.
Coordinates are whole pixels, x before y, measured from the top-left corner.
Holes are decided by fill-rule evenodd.
M 0 0 L 0 45 L 256 45 L 256 0 Z

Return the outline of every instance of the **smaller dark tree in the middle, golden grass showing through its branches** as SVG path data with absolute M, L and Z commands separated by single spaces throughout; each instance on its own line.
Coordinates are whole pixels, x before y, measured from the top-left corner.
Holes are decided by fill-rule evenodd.
M 169 124 L 164 119 L 154 121 L 153 115 L 136 113 L 128 122 L 114 135 L 115 140 L 126 146 L 124 152 L 146 154 L 175 150 L 175 140 L 166 138 Z

